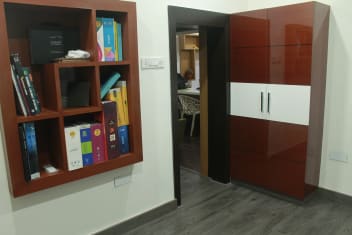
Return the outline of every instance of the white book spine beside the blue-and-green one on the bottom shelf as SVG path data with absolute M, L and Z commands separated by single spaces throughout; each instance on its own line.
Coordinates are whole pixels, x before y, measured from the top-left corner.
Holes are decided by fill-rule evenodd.
M 65 127 L 67 166 L 69 171 L 83 167 L 79 126 Z

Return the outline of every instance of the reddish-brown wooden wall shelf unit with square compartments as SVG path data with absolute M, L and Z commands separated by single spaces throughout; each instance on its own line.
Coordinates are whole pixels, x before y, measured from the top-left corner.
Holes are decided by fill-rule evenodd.
M 113 17 L 122 24 L 123 61 L 98 61 L 96 17 Z M 31 65 L 28 31 L 31 27 L 48 23 L 75 28 L 80 34 L 80 49 L 92 54 L 90 61 Z M 135 3 L 115 0 L 0 0 L 0 101 L 9 184 L 14 197 L 142 161 L 137 48 Z M 25 117 L 16 112 L 9 60 L 12 53 L 19 53 L 22 64 L 31 69 L 42 109 L 37 115 Z M 75 70 L 80 74 L 79 79 L 89 82 L 88 107 L 63 107 L 60 93 L 60 71 L 63 69 Z M 90 120 L 102 112 L 100 83 L 103 74 L 110 71 L 119 72 L 121 79 L 127 81 L 130 152 L 68 171 L 65 121 Z M 40 167 L 50 163 L 58 169 L 51 174 L 41 169 L 40 178 L 29 182 L 24 179 L 18 131 L 18 125 L 25 122 L 34 122 L 36 127 Z

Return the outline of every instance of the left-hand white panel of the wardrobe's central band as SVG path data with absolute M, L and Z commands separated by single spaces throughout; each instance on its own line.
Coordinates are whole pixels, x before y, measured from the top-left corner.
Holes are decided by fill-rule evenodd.
M 266 84 L 231 82 L 230 114 L 265 119 L 265 93 Z

